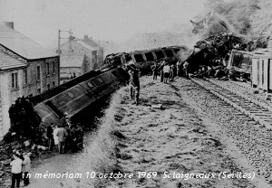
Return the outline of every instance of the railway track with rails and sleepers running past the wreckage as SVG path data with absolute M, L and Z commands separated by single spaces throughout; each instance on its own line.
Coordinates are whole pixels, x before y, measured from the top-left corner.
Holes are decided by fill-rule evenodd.
M 248 98 L 248 96 L 238 93 L 236 90 L 219 85 L 214 80 L 191 80 L 232 107 L 238 108 L 241 113 L 254 119 L 257 123 L 267 127 L 267 129 L 272 129 L 272 108 L 269 106 L 255 99 Z

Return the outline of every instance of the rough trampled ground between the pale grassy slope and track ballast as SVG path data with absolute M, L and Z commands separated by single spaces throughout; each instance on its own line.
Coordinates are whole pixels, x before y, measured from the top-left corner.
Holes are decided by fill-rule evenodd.
M 247 162 L 239 161 L 237 148 L 227 141 L 216 122 L 195 108 L 195 101 L 182 96 L 180 80 L 170 85 L 152 81 L 151 77 L 142 78 L 140 106 L 131 105 L 129 95 L 123 93 L 121 108 L 125 115 L 118 130 L 125 138 L 121 140 L 123 148 L 118 162 L 124 172 L 136 178 L 133 182 L 119 180 L 119 185 L 259 187 L 261 181 L 252 179 L 255 172 Z M 163 108 L 151 108 L 156 104 Z M 157 175 L 142 176 L 149 172 Z M 220 173 L 229 176 L 221 174 L 219 178 Z M 239 173 L 248 176 L 233 178 Z M 186 174 L 194 176 L 187 178 Z M 203 174 L 209 178 L 202 178 Z

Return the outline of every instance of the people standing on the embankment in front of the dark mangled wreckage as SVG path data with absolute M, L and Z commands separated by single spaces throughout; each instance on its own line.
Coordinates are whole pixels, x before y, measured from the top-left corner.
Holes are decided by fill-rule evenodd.
M 154 65 L 151 67 L 153 80 L 157 80 L 159 73 L 160 82 L 163 83 L 172 82 L 177 75 L 188 77 L 187 66 L 188 62 L 186 61 L 154 61 Z

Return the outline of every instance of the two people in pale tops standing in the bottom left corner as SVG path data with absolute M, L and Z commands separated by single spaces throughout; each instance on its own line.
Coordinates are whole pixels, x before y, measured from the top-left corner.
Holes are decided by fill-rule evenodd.
M 22 152 L 20 150 L 15 151 L 13 155 L 14 160 L 10 163 L 12 166 L 12 185 L 11 188 L 20 187 L 20 181 L 23 178 L 24 186 L 29 184 L 29 171 L 31 160 L 29 158 L 30 153 Z

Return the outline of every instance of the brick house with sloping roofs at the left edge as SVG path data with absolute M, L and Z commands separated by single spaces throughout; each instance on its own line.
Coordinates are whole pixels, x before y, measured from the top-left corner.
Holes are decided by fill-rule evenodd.
M 58 54 L 15 31 L 13 23 L 0 25 L 0 136 L 10 127 L 12 103 L 58 86 L 59 67 Z

